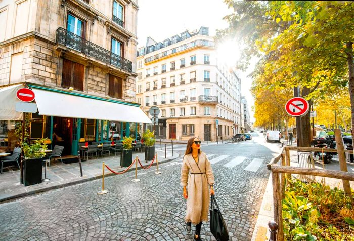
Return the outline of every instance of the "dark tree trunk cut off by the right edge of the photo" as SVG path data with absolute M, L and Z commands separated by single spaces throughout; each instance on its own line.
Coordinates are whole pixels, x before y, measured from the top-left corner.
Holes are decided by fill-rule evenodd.
M 353 42 L 346 44 L 346 54 L 348 56 L 348 72 L 349 72 L 349 96 L 351 107 L 351 140 L 354 143 L 354 58 L 353 58 Z

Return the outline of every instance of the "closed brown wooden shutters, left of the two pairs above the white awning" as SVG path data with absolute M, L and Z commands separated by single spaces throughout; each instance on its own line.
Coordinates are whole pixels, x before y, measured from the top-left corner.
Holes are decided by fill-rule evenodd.
M 63 59 L 62 87 L 83 91 L 84 65 Z

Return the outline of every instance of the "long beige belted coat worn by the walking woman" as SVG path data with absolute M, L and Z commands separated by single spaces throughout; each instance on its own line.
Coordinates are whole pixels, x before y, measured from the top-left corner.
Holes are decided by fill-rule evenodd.
M 186 222 L 198 224 L 202 221 L 208 221 L 210 202 L 208 185 L 211 184 L 214 184 L 214 174 L 206 154 L 204 152 L 200 153 L 198 164 L 192 154 L 185 155 L 181 168 L 181 186 L 188 185 Z

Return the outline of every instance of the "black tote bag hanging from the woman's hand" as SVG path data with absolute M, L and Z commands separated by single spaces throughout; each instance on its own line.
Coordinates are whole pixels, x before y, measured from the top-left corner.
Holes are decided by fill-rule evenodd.
M 214 203 L 216 208 L 214 208 Z M 211 196 L 211 209 L 210 211 L 210 231 L 217 241 L 228 241 L 229 233 L 226 228 L 223 215 L 220 213 L 219 207 L 217 206 L 216 199 Z

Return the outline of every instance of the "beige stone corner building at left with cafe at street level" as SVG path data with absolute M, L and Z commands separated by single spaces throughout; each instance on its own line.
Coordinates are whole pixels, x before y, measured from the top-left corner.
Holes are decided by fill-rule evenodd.
M 137 107 L 134 109 L 142 112 L 134 103 L 137 14 L 137 0 L 0 1 L 0 89 L 25 83 L 34 89 L 94 99 L 104 105 Z M 48 101 L 55 104 L 56 100 Z M 41 116 L 43 131 L 38 136 L 52 140 L 60 131 L 60 139 L 65 136 L 70 143 L 65 150 L 75 154 L 78 139 L 109 141 L 113 136 L 137 135 L 140 119 L 129 123 L 124 120 L 129 117 L 127 112 L 115 116 L 115 123 L 91 114 L 90 119 L 81 117 L 85 113 Z M 31 121 L 39 120 L 32 115 Z M 6 143 L 7 131 L 15 124 L 2 120 L 1 115 L 0 122 L 0 142 Z M 60 125 L 68 127 L 68 132 L 61 131 Z

